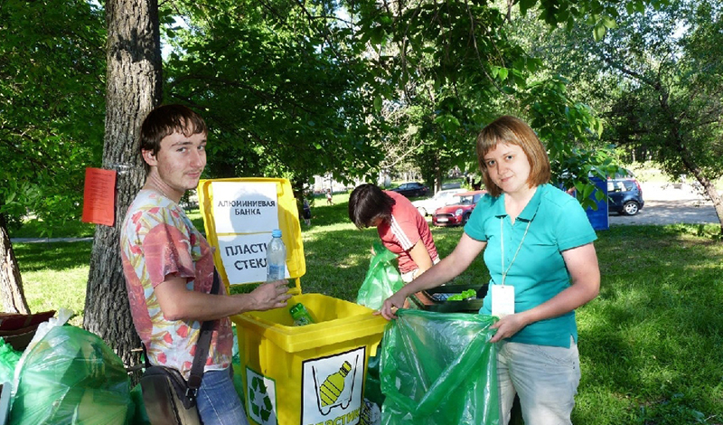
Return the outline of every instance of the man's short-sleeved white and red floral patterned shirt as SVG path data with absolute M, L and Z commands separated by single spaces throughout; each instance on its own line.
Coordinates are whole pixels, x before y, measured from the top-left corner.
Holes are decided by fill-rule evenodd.
M 174 367 L 188 379 L 202 322 L 166 320 L 155 287 L 186 278 L 188 290 L 209 293 L 213 284 L 211 245 L 171 199 L 142 190 L 128 208 L 120 234 L 123 273 L 136 332 L 151 364 Z M 220 293 L 225 293 L 223 285 Z M 205 370 L 228 368 L 233 349 L 230 319 L 213 327 Z

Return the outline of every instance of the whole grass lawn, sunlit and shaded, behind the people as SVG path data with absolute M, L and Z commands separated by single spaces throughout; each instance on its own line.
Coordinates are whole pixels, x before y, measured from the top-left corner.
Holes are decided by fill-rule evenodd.
M 347 200 L 334 194 L 334 205 L 327 206 L 316 199 L 312 225 L 302 225 L 306 293 L 354 300 L 362 285 L 376 232 L 354 228 Z M 200 215 L 190 215 L 202 228 Z M 600 296 L 577 310 L 583 377 L 574 423 L 723 423 L 723 245 L 709 234 L 716 230 L 673 225 L 598 232 Z M 462 229 L 433 234 L 446 256 Z M 33 311 L 82 312 L 89 242 L 18 243 L 14 249 Z M 487 279 L 480 258 L 456 283 Z

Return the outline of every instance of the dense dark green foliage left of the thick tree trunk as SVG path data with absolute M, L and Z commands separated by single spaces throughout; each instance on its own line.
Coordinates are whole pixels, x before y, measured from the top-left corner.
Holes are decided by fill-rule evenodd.
M 6 0 L 0 31 L 0 213 L 78 217 L 102 149 L 103 14 L 82 0 Z

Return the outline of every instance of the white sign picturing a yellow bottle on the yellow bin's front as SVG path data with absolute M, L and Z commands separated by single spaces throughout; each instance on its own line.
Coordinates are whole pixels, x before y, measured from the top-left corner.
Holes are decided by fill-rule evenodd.
M 366 346 L 302 363 L 301 424 L 359 423 Z

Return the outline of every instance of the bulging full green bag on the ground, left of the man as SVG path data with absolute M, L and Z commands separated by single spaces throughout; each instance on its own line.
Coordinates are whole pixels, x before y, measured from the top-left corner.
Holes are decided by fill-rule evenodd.
M 136 406 L 120 358 L 98 335 L 52 326 L 15 369 L 11 425 L 126 425 Z

